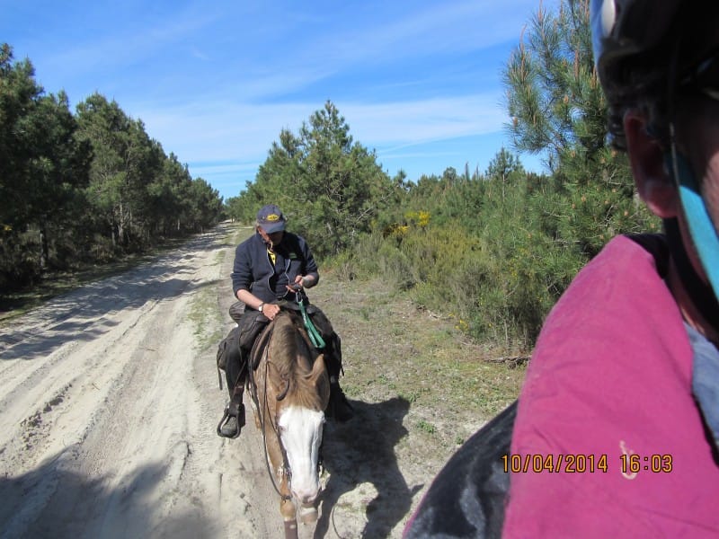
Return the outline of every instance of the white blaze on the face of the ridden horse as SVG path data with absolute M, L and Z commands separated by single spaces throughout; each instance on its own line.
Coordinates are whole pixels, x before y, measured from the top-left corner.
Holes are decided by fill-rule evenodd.
M 279 424 L 292 474 L 292 493 L 299 502 L 312 503 L 320 491 L 317 458 L 322 444 L 324 412 L 289 406 L 282 411 Z

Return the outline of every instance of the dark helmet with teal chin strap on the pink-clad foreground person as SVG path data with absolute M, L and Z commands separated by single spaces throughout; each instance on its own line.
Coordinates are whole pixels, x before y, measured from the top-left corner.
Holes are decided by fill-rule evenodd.
M 699 0 L 590 1 L 594 60 L 609 104 L 609 131 L 615 146 L 624 147 L 622 120 L 627 107 L 650 102 L 655 116 L 667 113 L 667 120 L 673 121 L 670 111 L 673 93 L 686 75 L 684 70 L 696 66 L 700 55 L 706 52 L 709 43 L 704 43 L 702 36 L 714 30 L 719 6 Z M 681 262 L 685 266 L 685 270 L 680 270 L 681 278 L 706 320 L 715 321 L 719 314 L 719 235 L 702 198 L 700 177 L 679 153 L 673 137 L 668 142 L 667 170 L 679 188 L 691 243 L 709 287 L 692 286 L 699 278 L 688 261 Z M 686 256 L 682 254 L 685 246 L 680 234 L 669 234 L 669 242 L 672 257 L 680 262 Z

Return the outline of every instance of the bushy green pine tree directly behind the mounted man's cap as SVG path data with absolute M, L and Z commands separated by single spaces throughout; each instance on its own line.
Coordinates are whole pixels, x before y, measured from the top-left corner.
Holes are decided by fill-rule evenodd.
M 292 229 L 321 256 L 342 252 L 368 232 L 393 190 L 374 152 L 352 140 L 350 126 L 333 102 L 326 102 L 297 135 L 280 133 L 244 193 L 243 206 L 257 211 L 278 204 Z

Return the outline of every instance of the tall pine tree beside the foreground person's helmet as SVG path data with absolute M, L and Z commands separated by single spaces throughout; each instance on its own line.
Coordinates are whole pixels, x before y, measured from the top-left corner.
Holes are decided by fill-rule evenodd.
M 626 156 L 608 145 L 607 103 L 591 49 L 590 0 L 540 6 L 503 73 L 508 126 L 519 150 L 543 153 L 555 240 L 590 258 L 615 234 L 652 229 L 635 197 Z

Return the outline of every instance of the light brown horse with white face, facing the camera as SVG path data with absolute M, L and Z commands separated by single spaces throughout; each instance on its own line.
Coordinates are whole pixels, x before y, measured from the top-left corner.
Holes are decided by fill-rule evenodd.
M 330 381 L 324 357 L 315 358 L 312 350 L 299 316 L 280 311 L 257 340 L 247 383 L 288 538 L 297 537 L 293 499 L 302 522 L 317 519 L 318 459 Z

